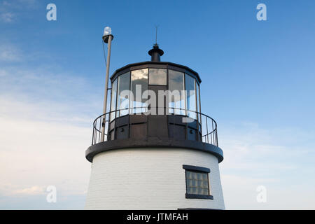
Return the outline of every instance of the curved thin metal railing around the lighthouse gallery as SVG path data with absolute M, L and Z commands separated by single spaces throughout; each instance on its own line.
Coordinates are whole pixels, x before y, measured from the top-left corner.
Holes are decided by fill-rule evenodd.
M 178 109 L 178 108 L 172 108 L 172 107 L 164 107 L 164 108 L 155 108 L 155 109 L 162 109 L 163 111 L 167 112 L 166 115 L 167 116 L 171 116 L 168 118 L 168 127 L 170 127 L 170 125 L 173 126 L 172 130 L 173 133 L 169 133 L 169 138 L 174 138 L 176 136 L 176 134 L 174 132 L 176 132 L 176 128 L 175 125 L 179 125 L 178 123 L 176 123 L 175 118 L 179 118 L 181 117 L 181 119 L 183 120 L 183 122 L 181 123 L 181 127 L 183 127 L 183 125 L 186 126 L 186 139 L 188 139 L 188 127 L 190 130 L 190 134 L 191 134 L 191 130 L 193 128 L 193 130 L 195 130 L 196 132 L 196 139 L 195 141 L 202 141 L 204 143 L 207 144 L 212 144 L 214 146 L 218 146 L 218 133 L 217 133 L 217 124 L 216 121 L 205 115 L 204 113 L 200 113 L 200 112 L 196 112 L 196 111 L 190 111 L 190 110 L 186 110 L 186 109 Z M 148 110 L 152 110 L 152 108 L 148 108 L 148 107 L 133 107 L 133 108 L 129 108 L 129 109 L 119 109 L 116 111 L 109 111 L 107 113 L 102 114 L 101 116 L 97 117 L 94 120 L 93 123 L 93 134 L 92 134 L 92 145 L 94 144 L 99 144 L 100 142 L 102 142 L 102 127 L 105 127 L 105 133 L 104 133 L 104 141 L 111 141 L 110 137 L 109 137 L 109 127 L 111 125 L 111 123 L 113 123 L 114 121 L 116 121 L 116 119 L 119 118 L 123 118 L 123 116 L 128 116 L 128 115 L 146 115 L 146 116 L 151 116 L 151 114 L 147 114 Z M 123 112 L 123 115 L 121 115 L 121 112 Z M 163 115 L 162 115 L 163 116 Z M 190 122 L 196 124 L 195 128 L 191 127 Z M 116 122 L 115 122 L 116 123 Z M 148 125 L 148 122 L 144 122 L 146 123 L 146 126 Z M 132 123 L 130 123 L 130 120 L 128 120 L 128 124 L 129 127 L 130 125 L 133 125 Z M 114 128 L 116 129 L 117 126 L 115 126 Z M 146 129 L 148 129 L 148 127 L 146 127 Z M 129 133 L 130 135 L 130 133 Z M 130 137 L 129 137 L 130 138 Z

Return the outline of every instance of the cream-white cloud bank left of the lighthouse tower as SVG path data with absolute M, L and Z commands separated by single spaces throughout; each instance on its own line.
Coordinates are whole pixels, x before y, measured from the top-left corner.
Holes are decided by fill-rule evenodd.
M 29 109 L 21 106 L 32 110 L 31 105 Z M 50 185 L 65 196 L 85 193 L 90 174 L 85 150 L 90 146 L 91 130 L 54 120 L 0 113 L 1 195 L 42 194 Z

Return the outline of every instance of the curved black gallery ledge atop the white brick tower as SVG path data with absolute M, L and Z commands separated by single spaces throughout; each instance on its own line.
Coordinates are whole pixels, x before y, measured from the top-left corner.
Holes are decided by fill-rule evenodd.
M 103 141 L 99 144 L 94 144 L 85 151 L 85 158 L 92 162 L 94 155 L 109 150 L 118 150 L 122 148 L 188 148 L 205 153 L 211 153 L 218 158 L 218 162 L 223 161 L 223 151 L 218 146 L 207 144 L 200 141 L 191 140 L 176 140 L 170 138 L 155 138 L 147 137 L 145 139 L 116 139 L 113 141 Z

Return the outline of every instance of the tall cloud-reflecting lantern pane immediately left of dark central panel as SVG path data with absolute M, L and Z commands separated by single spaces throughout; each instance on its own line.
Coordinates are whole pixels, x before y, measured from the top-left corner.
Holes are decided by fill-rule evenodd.
M 140 69 L 132 71 L 131 90 L 134 95 L 134 100 L 131 107 L 139 107 L 139 109 L 132 109 L 132 113 L 146 112 L 146 99 L 142 99 L 144 91 L 148 90 L 148 69 Z

